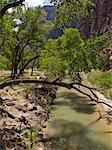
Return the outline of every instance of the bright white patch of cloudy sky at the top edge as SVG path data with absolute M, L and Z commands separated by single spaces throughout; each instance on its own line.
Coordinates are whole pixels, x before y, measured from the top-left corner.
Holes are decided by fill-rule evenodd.
M 49 5 L 49 0 L 25 0 L 25 4 L 28 7 L 36 7 L 36 6 L 43 6 L 43 5 Z

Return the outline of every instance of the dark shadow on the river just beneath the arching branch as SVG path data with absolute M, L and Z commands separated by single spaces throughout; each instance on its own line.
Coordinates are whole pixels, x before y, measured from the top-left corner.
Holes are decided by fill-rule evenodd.
M 55 105 L 69 106 L 79 113 L 92 114 L 96 111 L 94 103 L 88 100 L 86 97 L 81 97 L 72 92 L 61 92 L 57 98 L 63 98 L 62 101 L 56 101 Z M 66 101 L 68 99 L 68 101 Z

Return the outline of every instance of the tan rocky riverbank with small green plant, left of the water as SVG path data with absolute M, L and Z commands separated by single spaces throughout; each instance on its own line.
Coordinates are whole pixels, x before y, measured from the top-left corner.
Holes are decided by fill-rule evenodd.
M 0 150 L 42 150 L 56 95 L 49 85 L 7 87 L 0 92 Z

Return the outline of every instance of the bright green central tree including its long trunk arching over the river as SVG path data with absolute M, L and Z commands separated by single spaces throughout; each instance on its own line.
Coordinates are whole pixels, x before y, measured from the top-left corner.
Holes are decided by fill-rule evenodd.
M 99 51 L 106 45 L 106 35 L 88 40 L 83 40 L 77 29 L 66 29 L 64 34 L 57 40 L 49 40 L 45 47 L 41 49 L 40 66 L 48 73 L 53 75 L 51 81 L 16 79 L 9 80 L 0 84 L 0 89 L 18 83 L 38 83 L 66 87 L 75 89 L 78 92 L 88 96 L 92 101 L 103 103 L 112 107 L 106 101 L 100 101 L 95 94 L 96 88 L 84 85 L 80 78 L 80 73 L 86 73 L 99 66 Z M 69 82 L 62 82 L 67 76 Z M 86 93 L 83 87 L 90 90 Z

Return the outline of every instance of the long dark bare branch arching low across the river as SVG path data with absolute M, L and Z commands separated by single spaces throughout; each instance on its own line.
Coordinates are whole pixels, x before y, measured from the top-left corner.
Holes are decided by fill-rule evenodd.
M 3 89 L 4 87 L 13 85 L 13 84 L 19 84 L 19 83 L 37 83 L 37 84 L 48 84 L 48 85 L 54 85 L 54 86 L 61 86 L 67 89 L 74 89 L 76 91 L 78 91 L 79 93 L 82 93 L 83 95 L 89 97 L 92 101 L 96 102 L 96 103 L 102 103 L 105 104 L 106 106 L 112 108 L 112 105 L 108 104 L 105 101 L 100 101 L 98 100 L 98 97 L 96 96 L 96 94 L 94 92 L 92 92 L 93 88 L 86 86 L 87 89 L 89 89 L 92 92 L 92 95 L 96 98 L 93 98 L 91 96 L 91 94 L 85 93 L 83 92 L 81 89 L 74 87 L 74 85 L 78 85 L 79 83 L 63 83 L 63 82 L 50 82 L 50 81 L 46 81 L 46 80 L 33 80 L 33 79 L 15 79 L 15 80 L 8 80 L 5 81 L 3 83 L 0 84 L 0 89 Z M 80 83 L 81 86 L 85 86 L 83 84 Z

